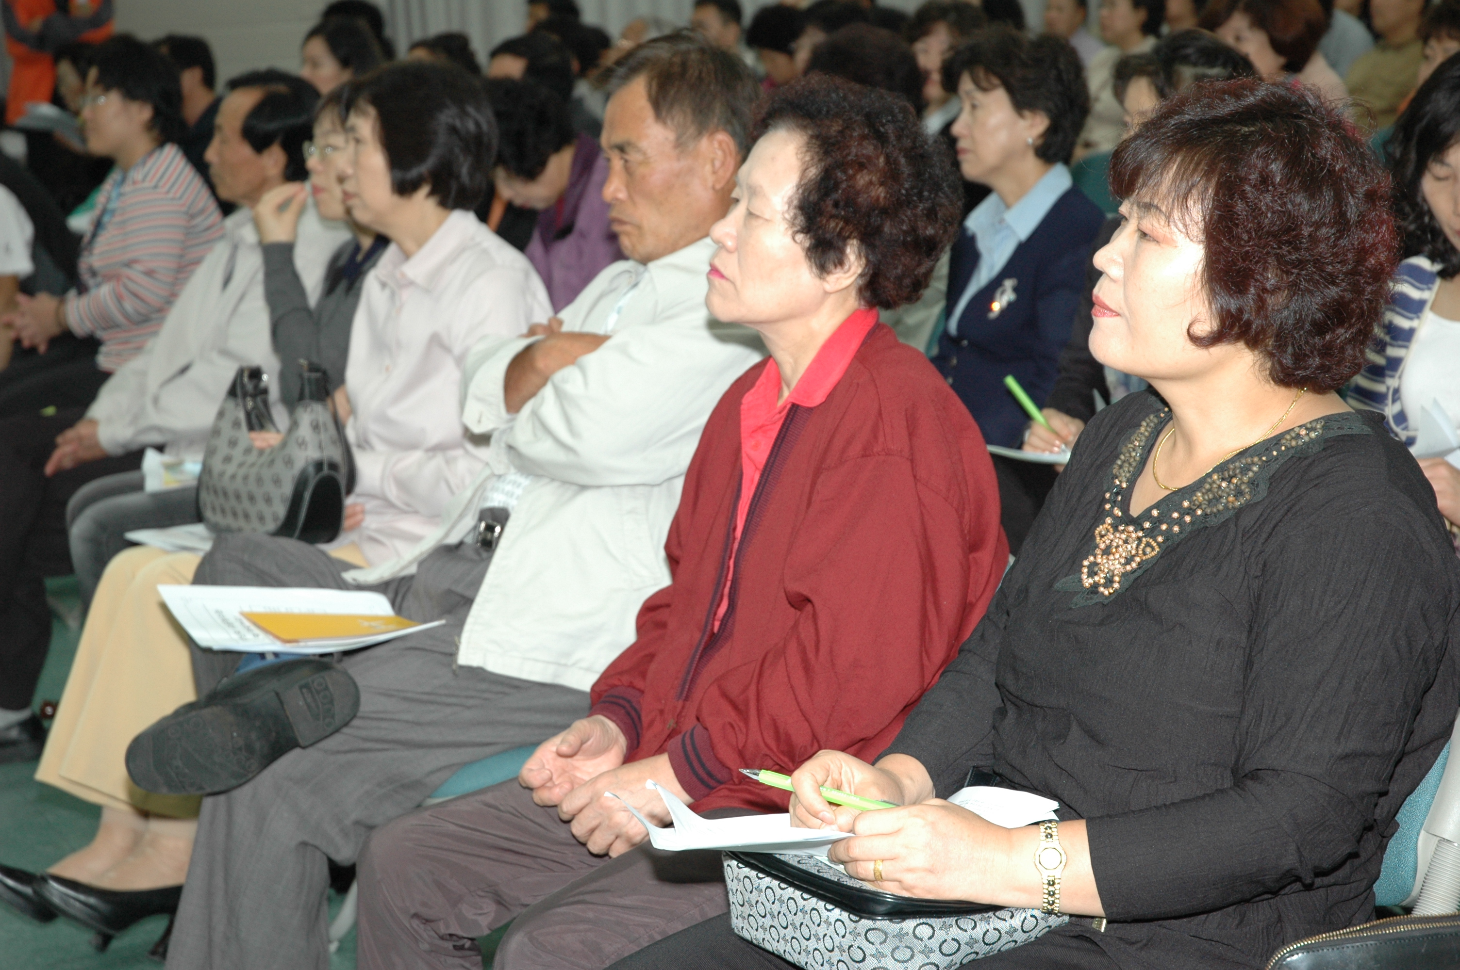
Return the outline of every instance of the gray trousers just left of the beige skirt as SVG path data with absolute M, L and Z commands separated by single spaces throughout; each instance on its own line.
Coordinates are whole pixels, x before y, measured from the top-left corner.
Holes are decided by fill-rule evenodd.
M 127 532 L 197 521 L 197 486 L 143 492 L 140 471 L 123 471 L 83 484 L 66 503 L 72 567 L 82 602 L 91 605 L 107 563 L 133 544 Z

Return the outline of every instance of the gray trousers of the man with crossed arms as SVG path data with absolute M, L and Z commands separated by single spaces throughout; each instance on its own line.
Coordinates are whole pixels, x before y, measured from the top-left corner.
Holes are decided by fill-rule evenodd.
M 476 547 L 439 548 L 416 576 L 380 586 L 403 616 L 445 626 L 346 655 L 361 688 L 355 719 L 203 799 L 169 967 L 324 970 L 327 859 L 353 862 L 372 829 L 461 764 L 537 744 L 587 713 L 584 691 L 456 665 L 486 563 Z M 346 567 L 305 543 L 225 535 L 194 582 L 337 589 Z

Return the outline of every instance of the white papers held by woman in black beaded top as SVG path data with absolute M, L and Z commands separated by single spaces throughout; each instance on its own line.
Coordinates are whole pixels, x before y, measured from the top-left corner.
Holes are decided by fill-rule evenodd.
M 618 798 L 634 812 L 645 829 L 656 849 L 685 852 L 688 849 L 724 849 L 737 852 L 791 852 L 804 855 L 826 855 L 831 843 L 850 839 L 850 831 L 826 829 L 794 829 L 787 812 L 774 815 L 740 815 L 739 818 L 702 818 L 673 792 L 666 791 L 653 779 L 644 783 L 658 792 L 675 821 L 673 829 L 656 826 L 637 808 L 615 792 L 604 798 Z M 1019 829 L 1037 821 L 1054 820 L 1060 804 L 1032 792 L 1016 792 L 1007 788 L 972 786 L 955 792 L 948 801 L 967 808 L 996 826 Z

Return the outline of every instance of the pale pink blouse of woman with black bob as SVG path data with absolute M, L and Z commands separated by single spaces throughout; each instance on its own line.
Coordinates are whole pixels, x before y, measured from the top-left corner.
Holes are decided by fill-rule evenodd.
M 352 502 L 365 527 L 342 535 L 381 563 L 437 528 L 451 496 L 486 462 L 461 424 L 467 352 L 552 317 L 527 258 L 469 212 L 453 212 L 410 257 L 391 244 L 361 289 L 345 387 L 355 449 Z

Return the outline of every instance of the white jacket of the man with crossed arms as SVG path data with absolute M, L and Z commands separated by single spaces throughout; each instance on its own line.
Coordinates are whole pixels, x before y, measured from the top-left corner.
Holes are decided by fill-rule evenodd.
M 488 465 L 410 556 L 352 570 L 374 583 L 463 538 L 496 478 L 531 476 L 461 632 L 458 662 L 587 690 L 634 642 L 644 600 L 669 583 L 664 538 L 699 432 L 762 354 L 705 311 L 715 244 L 599 273 L 559 317 L 612 338 L 507 413 L 507 366 L 531 338 L 488 338 L 466 368 L 463 416 L 492 436 Z M 632 289 L 632 292 L 629 292 Z

